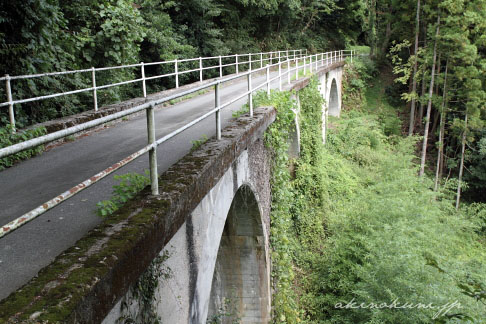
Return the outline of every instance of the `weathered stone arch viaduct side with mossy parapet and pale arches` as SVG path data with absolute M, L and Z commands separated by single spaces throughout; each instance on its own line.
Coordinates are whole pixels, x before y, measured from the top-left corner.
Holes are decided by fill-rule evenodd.
M 339 116 L 343 66 L 315 71 L 324 121 Z M 269 323 L 272 156 L 263 134 L 275 117 L 272 107 L 239 117 L 222 140 L 209 140 L 163 173 L 160 196 L 146 188 L 9 299 L 32 300 L 19 312 L 33 323 L 42 313 L 60 322 L 117 323 L 142 307 L 132 288 L 164 257 L 168 275 L 159 279 L 152 309 L 162 323 L 203 324 L 221 309 L 241 323 Z M 292 147 L 298 155 L 298 122 Z M 39 311 L 39 298 L 50 306 Z

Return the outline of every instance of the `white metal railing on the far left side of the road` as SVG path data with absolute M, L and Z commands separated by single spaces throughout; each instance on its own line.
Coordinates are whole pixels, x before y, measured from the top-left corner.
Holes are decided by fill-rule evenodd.
M 143 96 L 147 97 L 147 81 L 167 78 L 167 77 L 174 77 L 175 79 L 175 87 L 179 88 L 179 76 L 188 73 L 199 73 L 199 81 L 202 82 L 203 78 L 203 71 L 207 70 L 219 70 L 219 77 L 223 77 L 223 68 L 225 67 L 232 67 L 235 66 L 236 74 L 239 74 L 239 68 L 242 65 L 248 64 L 249 70 L 252 69 L 252 63 L 259 63 L 260 67 L 263 67 L 264 63 L 272 64 L 273 61 L 278 60 L 279 62 L 284 59 L 295 59 L 296 57 L 301 58 L 303 55 L 307 54 L 307 50 L 305 50 L 305 54 L 303 53 L 304 50 L 285 50 L 285 51 L 276 51 L 276 52 L 264 52 L 264 53 L 249 53 L 249 54 L 233 54 L 233 55 L 220 55 L 220 56 L 211 56 L 211 57 L 198 57 L 198 58 L 189 58 L 189 59 L 175 59 L 171 61 L 160 61 L 160 62 L 152 62 L 152 63 L 144 63 L 140 62 L 137 64 L 129 64 L 129 65 L 120 65 L 120 66 L 112 66 L 112 67 L 102 67 L 102 68 L 90 68 L 90 69 L 82 69 L 82 70 L 72 70 L 72 71 L 62 71 L 62 72 L 50 72 L 50 73 L 40 73 L 40 74 L 29 74 L 29 75 L 17 75 L 17 76 L 9 76 L 6 74 L 4 77 L 0 77 L 0 81 L 5 81 L 5 91 L 7 101 L 0 103 L 0 108 L 8 106 L 9 108 L 9 119 L 11 124 L 11 129 L 15 132 L 15 111 L 14 105 L 16 104 L 25 104 L 33 101 L 40 101 L 46 99 L 57 98 L 61 96 L 79 94 L 83 92 L 90 92 L 92 91 L 93 95 L 93 107 L 95 111 L 98 111 L 98 96 L 97 91 L 108 89 L 112 87 L 117 87 L 121 85 L 131 84 L 140 82 L 142 84 L 142 92 Z M 243 58 L 243 61 L 241 59 Z M 223 64 L 223 59 L 230 60 L 232 62 Z M 204 66 L 204 61 L 218 61 L 217 65 L 211 66 Z M 234 62 L 233 62 L 234 61 Z M 186 62 L 195 62 L 198 64 L 198 67 L 195 69 L 190 70 L 181 70 L 181 64 Z M 150 77 L 145 76 L 145 67 L 147 66 L 166 66 L 166 65 L 173 65 L 173 71 L 171 73 L 161 74 L 161 75 L 154 75 Z M 131 68 L 140 68 L 140 78 L 127 80 L 112 84 L 105 84 L 105 85 L 97 85 L 96 84 L 96 72 L 100 71 L 111 71 L 111 70 L 118 70 L 118 69 L 131 69 Z M 15 99 L 13 98 L 13 90 L 14 87 L 12 86 L 12 81 L 15 80 L 32 80 L 35 78 L 42 78 L 42 77 L 49 77 L 49 76 L 59 76 L 59 75 L 73 75 L 79 73 L 91 73 L 91 83 L 92 86 L 83 89 L 76 89 L 72 91 L 66 92 L 57 92 L 43 96 L 36 96 L 31 98 L 23 98 L 23 99 Z

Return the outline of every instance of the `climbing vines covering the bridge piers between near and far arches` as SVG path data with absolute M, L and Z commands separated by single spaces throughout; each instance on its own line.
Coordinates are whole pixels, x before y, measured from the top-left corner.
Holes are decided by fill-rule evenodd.
M 306 276 L 303 268 L 318 250 L 325 237 L 324 175 L 322 170 L 323 98 L 317 89 L 318 81 L 298 94 L 272 92 L 255 96 L 255 106 L 271 105 L 277 110 L 275 122 L 265 133 L 265 143 L 273 153 L 272 168 L 272 279 L 274 323 L 299 323 L 305 320 L 302 305 Z M 288 156 L 290 134 L 295 128 L 296 96 L 300 98 L 301 150 L 299 159 Z M 294 169 L 291 174 L 290 166 Z

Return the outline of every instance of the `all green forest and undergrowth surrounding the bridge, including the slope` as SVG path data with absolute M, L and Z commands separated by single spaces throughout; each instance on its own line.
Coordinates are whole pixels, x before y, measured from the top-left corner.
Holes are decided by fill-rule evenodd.
M 11 75 L 367 48 L 367 58 L 348 64 L 346 112 L 331 121 L 326 146 L 316 142 L 314 121 L 303 120 L 294 178 L 272 184 L 283 188 L 272 224 L 275 322 L 484 322 L 486 0 L 3 1 L 0 26 L 0 70 Z M 99 82 L 136 73 L 114 71 Z M 172 82 L 151 83 L 149 91 Z M 20 83 L 14 96 L 89 83 L 89 76 L 46 78 Z M 301 94 L 302 102 L 320 107 L 316 87 Z M 139 95 L 119 87 L 100 100 Z M 90 109 L 91 100 L 16 107 L 19 126 Z M 259 100 L 291 106 L 289 95 Z M 318 116 L 314 106 L 303 109 Z M 6 109 L 0 126 L 6 139 Z M 433 320 L 427 310 L 334 307 L 353 298 L 467 306 Z

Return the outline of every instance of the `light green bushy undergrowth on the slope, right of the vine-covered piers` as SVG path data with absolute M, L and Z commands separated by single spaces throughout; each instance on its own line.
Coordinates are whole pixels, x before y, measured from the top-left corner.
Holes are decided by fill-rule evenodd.
M 330 192 L 329 238 L 312 265 L 312 318 L 320 323 L 427 323 L 433 316 L 431 310 L 335 307 L 353 298 L 357 304 L 458 300 L 461 312 L 483 318 L 484 308 L 453 279 L 424 267 L 424 254 L 433 255 L 454 277 L 486 279 L 486 254 L 471 223 L 451 210 L 450 200 L 435 201 L 429 180 L 424 186 L 417 178 L 411 162 L 415 140 L 390 143 L 374 118 L 344 117 L 331 130 L 324 155 L 349 165 L 347 177 L 353 180 L 340 185 L 349 183 L 354 190 Z

